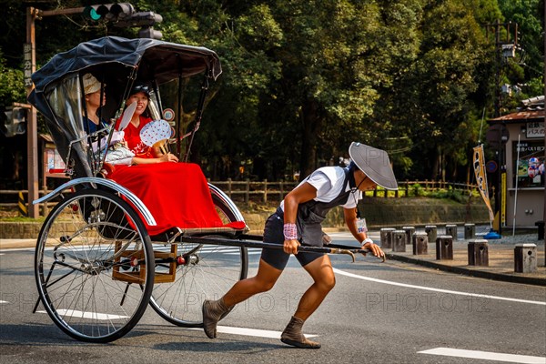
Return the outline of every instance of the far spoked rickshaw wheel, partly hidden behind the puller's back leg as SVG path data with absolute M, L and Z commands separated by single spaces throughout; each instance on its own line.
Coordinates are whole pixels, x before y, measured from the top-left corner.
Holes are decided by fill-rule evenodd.
M 236 221 L 226 204 L 214 196 L 213 202 L 225 223 Z M 226 238 L 205 238 L 215 237 Z M 248 251 L 242 247 L 178 243 L 177 254 L 185 258 L 185 263 L 177 267 L 174 282 L 154 287 L 150 305 L 172 324 L 200 328 L 203 301 L 222 297 L 238 280 L 247 278 Z

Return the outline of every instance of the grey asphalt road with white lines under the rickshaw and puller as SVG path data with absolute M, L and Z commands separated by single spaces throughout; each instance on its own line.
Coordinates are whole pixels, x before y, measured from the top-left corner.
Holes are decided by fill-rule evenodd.
M 293 258 L 275 288 L 221 321 L 217 339 L 172 326 L 149 308 L 124 338 L 82 343 L 45 313 L 32 314 L 33 256 L 0 250 L 0 363 L 546 363 L 546 288 L 347 256 L 331 256 L 336 288 L 304 326 L 322 349 L 278 339 L 311 284 Z M 251 250 L 250 275 L 258 258 Z

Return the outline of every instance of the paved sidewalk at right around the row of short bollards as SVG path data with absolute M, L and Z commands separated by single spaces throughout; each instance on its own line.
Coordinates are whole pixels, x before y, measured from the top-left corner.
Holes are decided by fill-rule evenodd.
M 476 237 L 475 239 L 482 239 Z M 429 243 L 428 254 L 413 255 L 413 246 L 406 245 L 406 252 L 393 252 L 384 249 L 388 259 L 417 264 L 427 268 L 435 268 L 450 273 L 478 278 L 503 280 L 513 283 L 546 286 L 546 267 L 544 267 L 544 240 L 537 236 L 519 238 L 519 241 L 488 240 L 489 266 L 470 266 L 468 259 L 468 243 L 471 240 L 453 242 L 453 259 L 438 260 L 436 258 L 436 243 Z M 514 247 L 516 244 L 535 244 L 537 246 L 537 270 L 532 273 L 516 273 L 514 271 Z

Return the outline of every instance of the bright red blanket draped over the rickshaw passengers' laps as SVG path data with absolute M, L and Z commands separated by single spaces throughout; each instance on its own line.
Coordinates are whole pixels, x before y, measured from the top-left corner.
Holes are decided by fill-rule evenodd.
M 140 198 L 156 219 L 157 226 L 147 226 L 150 235 L 171 227 L 233 227 L 245 223 L 222 223 L 212 202 L 207 179 L 192 163 L 157 163 L 116 167 L 108 176 Z

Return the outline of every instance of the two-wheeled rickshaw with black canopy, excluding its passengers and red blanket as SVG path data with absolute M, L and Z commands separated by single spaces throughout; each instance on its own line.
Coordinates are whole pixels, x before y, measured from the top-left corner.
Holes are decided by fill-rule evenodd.
M 109 147 L 114 121 L 86 133 L 86 73 L 106 85 L 101 92 L 106 105 L 100 109 L 106 120 L 120 117 L 130 88 L 146 83 L 152 88 L 150 110 L 174 130 L 167 147 L 187 161 L 207 90 L 221 72 L 217 54 L 204 47 L 106 36 L 54 56 L 33 74 L 29 102 L 45 116 L 70 177 L 34 201 L 58 200 L 36 242 L 35 311 L 41 302 L 70 337 L 87 342 L 119 339 L 135 327 L 148 304 L 172 324 L 202 327 L 203 300 L 219 298 L 247 277 L 248 247 L 281 248 L 248 235 L 236 204 L 210 184 L 221 225 L 172 227 L 150 235 L 147 227 L 156 225 L 153 214 L 133 191 L 107 177 L 106 154 L 93 147 L 104 140 Z

